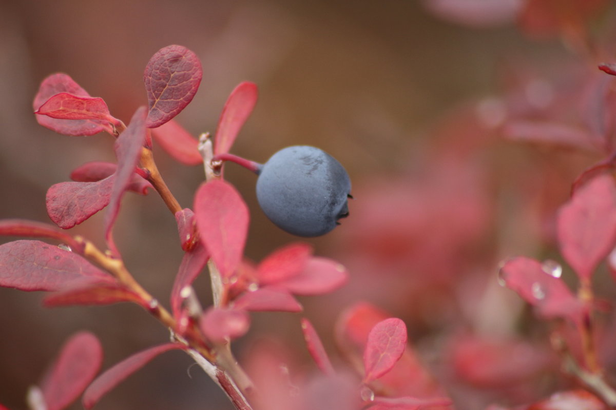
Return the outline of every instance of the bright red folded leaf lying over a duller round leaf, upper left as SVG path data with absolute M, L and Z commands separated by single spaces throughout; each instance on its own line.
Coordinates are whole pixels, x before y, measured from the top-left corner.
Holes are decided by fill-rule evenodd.
M 85 97 L 71 93 L 58 93 L 49 98 L 34 114 L 65 120 L 102 120 L 120 125 L 120 120 L 109 113 L 100 97 Z

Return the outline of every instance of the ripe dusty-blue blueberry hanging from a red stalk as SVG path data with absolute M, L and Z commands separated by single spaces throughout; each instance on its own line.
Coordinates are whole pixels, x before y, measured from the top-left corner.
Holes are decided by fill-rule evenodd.
M 274 224 L 290 234 L 330 232 L 349 215 L 351 179 L 321 149 L 291 146 L 276 152 L 257 171 L 257 200 Z

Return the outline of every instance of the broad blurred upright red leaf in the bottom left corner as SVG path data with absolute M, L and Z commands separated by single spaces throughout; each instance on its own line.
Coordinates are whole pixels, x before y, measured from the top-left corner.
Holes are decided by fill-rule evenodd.
M 41 383 L 47 410 L 62 410 L 73 403 L 102 361 L 103 349 L 94 334 L 79 332 L 68 339 Z

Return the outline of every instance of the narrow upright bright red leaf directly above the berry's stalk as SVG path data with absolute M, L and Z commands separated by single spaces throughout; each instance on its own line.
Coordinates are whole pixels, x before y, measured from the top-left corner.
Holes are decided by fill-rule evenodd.
M 233 89 L 218 120 L 216 138 L 214 138 L 214 155 L 230 151 L 235 137 L 240 132 L 248 116 L 257 103 L 258 90 L 252 82 L 241 82 Z

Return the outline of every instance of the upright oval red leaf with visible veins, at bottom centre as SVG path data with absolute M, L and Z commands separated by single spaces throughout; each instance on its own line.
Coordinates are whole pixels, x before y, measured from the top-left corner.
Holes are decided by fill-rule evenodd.
M 405 347 L 407 326 L 402 320 L 389 318 L 377 323 L 368 334 L 363 352 L 363 382 L 369 383 L 390 371 L 404 353 Z

